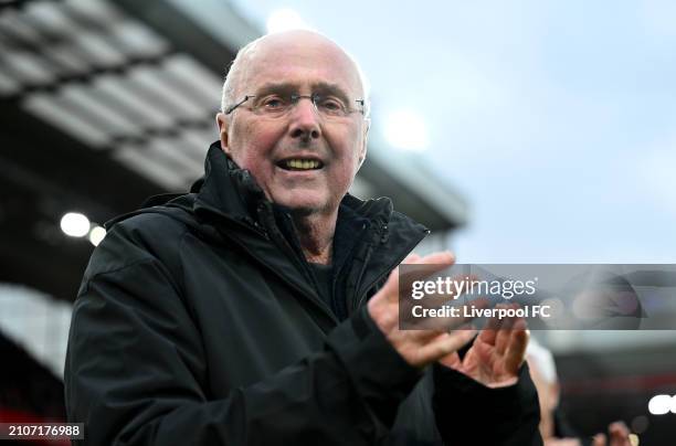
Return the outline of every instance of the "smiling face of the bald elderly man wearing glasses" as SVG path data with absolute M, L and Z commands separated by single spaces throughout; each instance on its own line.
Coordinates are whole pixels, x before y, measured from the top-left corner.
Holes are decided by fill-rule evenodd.
M 271 88 L 298 95 L 335 88 L 356 107 L 355 99 L 362 95 L 359 75 L 348 56 L 311 33 L 266 38 L 241 74 L 235 84 L 237 102 Z M 219 114 L 218 121 L 221 146 L 241 168 L 251 171 L 266 197 L 304 214 L 335 212 L 366 155 L 362 114 L 326 119 L 306 98 L 279 118 L 255 114 L 244 103 L 230 115 Z M 291 160 L 318 161 L 319 167 L 297 170 L 289 167 Z

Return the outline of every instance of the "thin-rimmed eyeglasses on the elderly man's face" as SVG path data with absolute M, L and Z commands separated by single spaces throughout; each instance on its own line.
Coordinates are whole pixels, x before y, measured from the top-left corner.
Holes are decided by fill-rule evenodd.
M 271 118 L 281 118 L 285 116 L 298 102 L 303 98 L 310 99 L 315 109 L 325 118 L 345 118 L 352 113 L 361 113 L 366 116 L 365 99 L 355 99 L 359 108 L 350 108 L 345 100 L 336 96 L 325 96 L 313 93 L 311 95 L 266 95 L 254 96 L 246 95 L 242 100 L 225 109 L 225 115 L 233 113 L 239 106 L 251 100 L 251 110 L 256 115 Z

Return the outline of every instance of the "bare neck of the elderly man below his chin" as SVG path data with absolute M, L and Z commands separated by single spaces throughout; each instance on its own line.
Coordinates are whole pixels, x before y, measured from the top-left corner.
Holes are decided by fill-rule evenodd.
M 331 263 L 337 216 L 337 210 L 329 215 L 293 215 L 300 248 L 307 262 L 323 265 Z

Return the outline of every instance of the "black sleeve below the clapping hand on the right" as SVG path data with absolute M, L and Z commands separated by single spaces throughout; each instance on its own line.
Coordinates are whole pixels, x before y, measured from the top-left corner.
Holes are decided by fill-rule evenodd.
M 432 406 L 444 444 L 542 445 L 538 393 L 524 363 L 516 384 L 489 389 L 435 364 Z

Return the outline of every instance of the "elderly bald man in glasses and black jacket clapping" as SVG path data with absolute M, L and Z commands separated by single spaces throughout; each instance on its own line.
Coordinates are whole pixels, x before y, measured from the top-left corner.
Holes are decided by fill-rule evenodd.
M 471 330 L 399 330 L 390 273 L 427 231 L 347 194 L 368 99 L 338 45 L 250 43 L 216 120 L 191 193 L 108 223 L 92 256 L 65 368 L 85 443 L 541 444 L 522 320 L 460 355 Z

